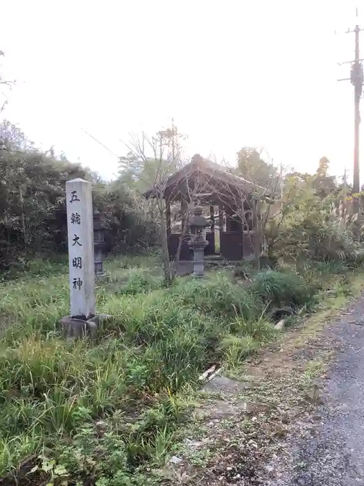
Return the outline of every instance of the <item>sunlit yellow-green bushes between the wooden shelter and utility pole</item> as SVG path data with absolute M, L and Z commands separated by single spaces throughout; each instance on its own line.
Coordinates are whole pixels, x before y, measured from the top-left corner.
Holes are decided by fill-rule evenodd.
M 361 262 L 363 250 L 354 237 L 355 218 L 327 175 L 329 160 L 321 158 L 316 174 L 289 174 L 281 212 L 267 228 L 270 255 L 284 260 Z M 283 215 L 283 216 L 282 216 Z

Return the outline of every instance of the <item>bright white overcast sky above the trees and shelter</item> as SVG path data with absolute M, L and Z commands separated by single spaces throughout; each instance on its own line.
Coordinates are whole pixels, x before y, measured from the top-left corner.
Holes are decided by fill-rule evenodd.
M 171 117 L 188 135 L 187 157 L 234 162 L 242 146 L 257 146 L 300 171 L 315 171 L 327 156 L 332 174 L 346 167 L 352 178 L 354 93 L 349 81 L 338 83 L 349 65 L 337 62 L 354 57 L 354 34 L 341 33 L 364 27 L 364 7 L 358 19 L 354 7 L 350 0 L 2 0 L 2 69 L 17 80 L 3 117 L 107 180 L 130 133 L 153 135 Z

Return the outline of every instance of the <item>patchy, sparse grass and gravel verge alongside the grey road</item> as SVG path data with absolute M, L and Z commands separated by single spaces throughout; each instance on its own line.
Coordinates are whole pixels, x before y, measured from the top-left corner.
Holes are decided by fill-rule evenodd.
M 360 270 L 327 278 L 325 287 L 330 280 L 335 292 L 322 296 L 313 314 L 297 319 L 259 353 L 225 369 L 241 380 L 239 387 L 199 394 L 193 421 L 175 447 L 183 461 L 158 471 L 166 484 L 275 483 L 275 467 L 290 453 L 286 435 L 302 434 L 306 424 L 314 427 L 321 419 L 320 386 L 337 351 L 327 324 L 364 289 Z

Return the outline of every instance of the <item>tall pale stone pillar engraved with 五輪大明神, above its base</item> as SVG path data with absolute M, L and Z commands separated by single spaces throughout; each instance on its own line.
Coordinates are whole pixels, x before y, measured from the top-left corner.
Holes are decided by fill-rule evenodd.
M 70 317 L 95 315 L 92 184 L 77 178 L 66 183 Z

